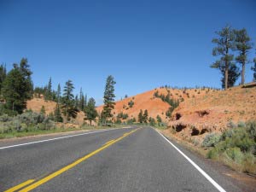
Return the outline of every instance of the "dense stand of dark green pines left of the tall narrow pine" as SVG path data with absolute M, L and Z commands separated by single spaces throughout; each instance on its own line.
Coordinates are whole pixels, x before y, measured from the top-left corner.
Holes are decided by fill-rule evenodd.
M 52 79 L 44 87 L 33 88 L 32 71 L 26 58 L 22 58 L 20 64 L 14 64 L 13 68 L 7 73 L 4 65 L 0 66 L 0 114 L 7 113 L 14 116 L 23 113 L 26 109 L 26 101 L 35 97 L 44 97 L 47 101 L 56 102 L 54 113 L 50 113 L 50 119 L 62 122 L 63 118 L 69 121 L 76 118 L 79 111 L 85 114 L 84 119 L 91 121 L 98 116 L 96 112 L 95 99 L 87 96 L 80 90 L 79 96 L 73 95 L 74 85 L 72 80 L 67 80 L 61 93 L 61 85 L 58 84 L 57 90 L 52 89 Z M 44 107 L 41 113 L 45 113 Z

